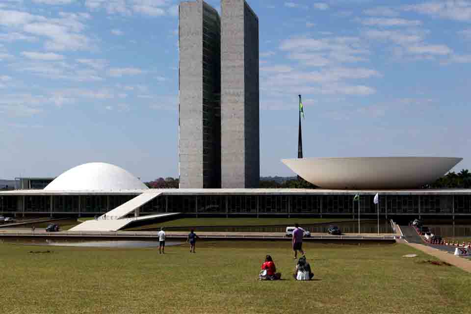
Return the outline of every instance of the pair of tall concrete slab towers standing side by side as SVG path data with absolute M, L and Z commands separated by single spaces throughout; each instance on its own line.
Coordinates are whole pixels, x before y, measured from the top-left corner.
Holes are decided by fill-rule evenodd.
M 180 188 L 260 180 L 259 20 L 244 0 L 179 10 Z

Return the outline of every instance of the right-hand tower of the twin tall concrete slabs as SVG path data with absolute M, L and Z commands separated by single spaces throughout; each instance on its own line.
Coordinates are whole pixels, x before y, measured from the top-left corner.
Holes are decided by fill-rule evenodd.
M 221 0 L 221 14 L 221 185 L 257 187 L 258 19 L 244 0 Z

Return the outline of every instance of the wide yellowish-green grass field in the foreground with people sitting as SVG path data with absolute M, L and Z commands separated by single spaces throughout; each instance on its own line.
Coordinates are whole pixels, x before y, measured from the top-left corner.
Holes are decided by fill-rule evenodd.
M 0 244 L 0 312 L 470 313 L 471 274 L 404 244 L 305 243 L 316 281 L 291 278 L 287 243 L 105 249 Z M 46 251 L 51 253 L 29 253 Z M 415 253 L 416 258 L 402 255 Z M 272 255 L 282 281 L 259 282 Z

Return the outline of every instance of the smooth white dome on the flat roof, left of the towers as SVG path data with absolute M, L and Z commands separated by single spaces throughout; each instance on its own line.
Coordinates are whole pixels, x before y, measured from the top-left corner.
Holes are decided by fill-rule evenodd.
M 118 166 L 91 162 L 67 170 L 44 189 L 49 191 L 141 190 L 148 187 Z

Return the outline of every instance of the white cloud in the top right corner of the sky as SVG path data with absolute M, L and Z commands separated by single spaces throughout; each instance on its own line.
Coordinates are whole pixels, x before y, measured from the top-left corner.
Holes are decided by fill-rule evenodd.
M 471 20 L 471 2 L 467 0 L 429 1 L 405 5 L 403 9 L 456 21 L 469 22 Z

